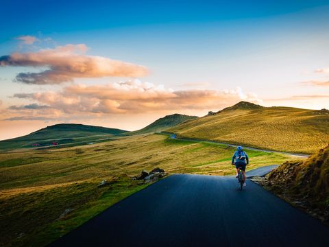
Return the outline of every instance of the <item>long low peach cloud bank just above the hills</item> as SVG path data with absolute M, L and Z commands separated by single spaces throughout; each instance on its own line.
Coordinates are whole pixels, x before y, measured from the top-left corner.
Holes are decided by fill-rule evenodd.
M 70 85 L 58 92 L 20 93 L 13 97 L 31 99 L 58 110 L 57 114 L 140 114 L 169 110 L 220 109 L 240 100 L 261 104 L 253 93 L 237 88 L 225 91 L 174 91 L 163 85 L 139 80 L 107 85 Z

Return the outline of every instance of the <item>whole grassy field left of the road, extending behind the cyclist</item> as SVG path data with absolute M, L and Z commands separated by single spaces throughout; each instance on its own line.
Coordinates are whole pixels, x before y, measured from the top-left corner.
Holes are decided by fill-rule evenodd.
M 142 169 L 232 175 L 234 150 L 149 134 L 79 147 L 1 153 L 1 246 L 45 246 L 147 186 L 129 177 Z M 247 154 L 248 169 L 296 159 L 252 150 Z M 98 188 L 101 180 L 111 184 Z

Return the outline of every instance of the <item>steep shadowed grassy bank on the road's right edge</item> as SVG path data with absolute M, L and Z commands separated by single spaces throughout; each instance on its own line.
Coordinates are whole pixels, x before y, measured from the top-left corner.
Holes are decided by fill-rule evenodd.
M 329 146 L 271 172 L 267 188 L 329 225 Z

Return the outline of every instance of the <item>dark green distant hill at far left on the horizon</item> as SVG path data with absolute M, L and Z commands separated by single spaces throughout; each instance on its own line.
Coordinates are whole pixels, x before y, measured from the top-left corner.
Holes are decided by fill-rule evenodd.
M 56 124 L 23 137 L 0 141 L 0 150 L 32 148 L 33 144 L 38 144 L 37 148 L 51 145 L 51 143 L 58 143 L 58 145 L 85 144 L 115 137 L 125 132 L 127 131 L 83 124 Z

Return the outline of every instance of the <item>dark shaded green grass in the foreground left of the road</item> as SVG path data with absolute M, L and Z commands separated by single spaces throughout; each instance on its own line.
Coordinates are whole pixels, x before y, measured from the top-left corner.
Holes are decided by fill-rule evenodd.
M 147 186 L 127 176 L 111 182 L 100 188 L 97 181 L 88 181 L 1 198 L 0 212 L 6 215 L 0 223 L 1 245 L 45 246 Z

